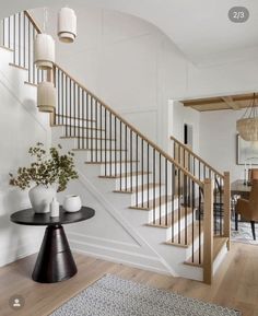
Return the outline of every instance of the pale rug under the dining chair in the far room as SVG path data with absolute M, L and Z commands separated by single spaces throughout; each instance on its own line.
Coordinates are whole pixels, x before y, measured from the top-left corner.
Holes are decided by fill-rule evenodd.
M 258 223 L 256 223 L 256 238 L 258 239 Z M 238 222 L 238 231 L 235 231 L 235 222 L 231 222 L 231 241 L 235 243 L 258 245 L 258 241 L 254 241 L 250 223 Z

